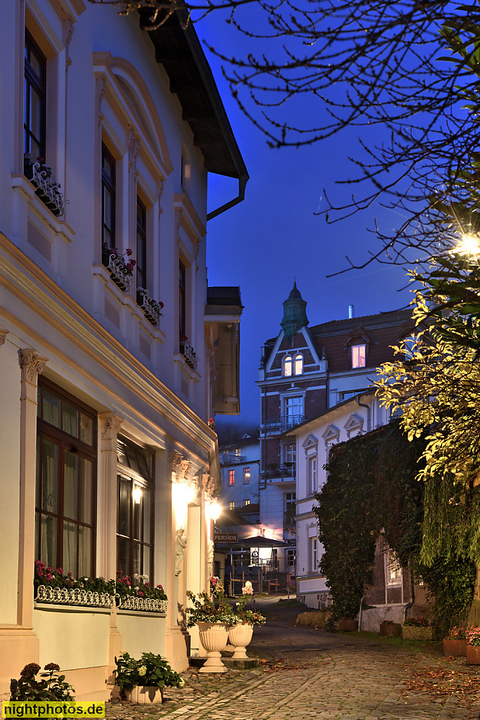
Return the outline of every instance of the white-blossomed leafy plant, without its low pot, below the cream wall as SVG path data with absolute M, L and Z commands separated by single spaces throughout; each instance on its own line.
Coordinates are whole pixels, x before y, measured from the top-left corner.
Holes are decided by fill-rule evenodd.
M 132 690 L 137 685 L 158 688 L 182 688 L 184 678 L 172 670 L 168 662 L 153 652 L 144 652 L 140 660 L 130 657 L 127 652 L 121 652 L 115 658 L 117 670 L 114 670 L 115 685 L 123 690 Z

